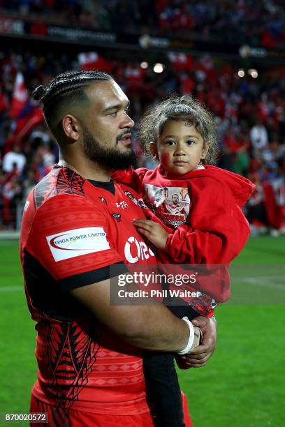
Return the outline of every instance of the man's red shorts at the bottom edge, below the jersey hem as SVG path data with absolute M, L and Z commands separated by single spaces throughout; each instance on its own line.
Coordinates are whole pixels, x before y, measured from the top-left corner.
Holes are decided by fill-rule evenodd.
M 187 399 L 182 394 L 185 427 L 193 427 Z M 150 412 L 137 415 L 107 415 L 55 407 L 31 395 L 30 412 L 47 412 L 48 422 L 31 423 L 33 427 L 154 427 Z

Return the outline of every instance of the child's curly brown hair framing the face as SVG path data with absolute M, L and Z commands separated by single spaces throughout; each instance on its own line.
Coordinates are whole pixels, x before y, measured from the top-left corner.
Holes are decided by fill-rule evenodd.
M 203 137 L 204 144 L 209 144 L 207 155 L 201 163 L 216 163 L 219 153 L 217 143 L 217 125 L 210 111 L 190 95 L 172 94 L 169 98 L 148 108 L 140 121 L 138 137 L 147 156 L 151 155 L 150 142 L 157 143 L 168 120 L 184 120 L 195 126 Z

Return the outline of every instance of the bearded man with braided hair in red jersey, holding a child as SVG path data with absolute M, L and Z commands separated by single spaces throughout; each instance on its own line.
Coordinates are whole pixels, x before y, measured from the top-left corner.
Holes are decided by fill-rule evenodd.
M 110 181 L 134 160 L 129 100 L 96 71 L 59 75 L 34 98 L 60 160 L 31 191 L 22 221 L 25 290 L 38 322 L 31 412 L 47 412 L 52 426 L 153 426 L 140 349 L 186 353 L 193 327 L 159 302 L 110 305 L 115 264 L 155 262 L 132 225 L 145 218 L 140 204 Z M 199 367 L 214 350 L 215 324 L 196 325 L 203 345 L 187 360 Z

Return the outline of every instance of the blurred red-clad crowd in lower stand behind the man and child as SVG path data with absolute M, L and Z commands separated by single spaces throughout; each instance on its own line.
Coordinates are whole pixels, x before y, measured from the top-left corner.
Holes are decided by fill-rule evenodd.
M 93 54 L 13 50 L 0 57 L 0 228 L 16 226 L 15 207 L 57 162 L 57 144 L 47 130 L 38 105 L 31 99 L 15 110 L 15 82 L 22 89 L 45 84 L 51 77 L 80 66 L 99 68 L 115 77 L 131 99 L 131 117 L 138 123 L 145 108 L 169 93 L 192 93 L 212 110 L 219 127 L 222 156 L 218 165 L 249 177 L 256 192 L 246 213 L 253 232 L 284 232 L 285 205 L 285 77 L 278 70 L 253 78 L 230 63 L 209 55 L 194 59 L 169 53 L 164 70 L 154 73 L 147 63 Z M 18 83 L 20 80 L 18 81 Z M 21 96 L 20 96 L 21 98 Z M 40 112 L 41 114 L 41 112 Z M 139 165 L 154 167 L 145 158 L 133 133 Z

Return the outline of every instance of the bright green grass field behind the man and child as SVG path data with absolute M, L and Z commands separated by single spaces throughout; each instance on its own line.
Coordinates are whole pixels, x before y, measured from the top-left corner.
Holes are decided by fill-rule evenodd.
M 17 245 L 0 241 L 0 413 L 28 412 L 36 378 Z M 285 239 L 249 240 L 232 274 L 233 297 L 216 312 L 217 350 L 204 368 L 180 371 L 194 426 L 284 426 Z

